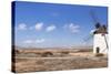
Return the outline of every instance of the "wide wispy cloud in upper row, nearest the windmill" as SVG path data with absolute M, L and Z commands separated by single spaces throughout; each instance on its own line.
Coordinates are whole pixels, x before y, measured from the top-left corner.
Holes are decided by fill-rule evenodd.
M 80 32 L 80 25 L 70 23 L 63 27 L 64 29 L 68 29 L 71 33 L 78 33 Z

